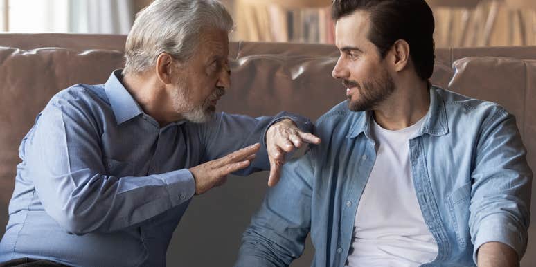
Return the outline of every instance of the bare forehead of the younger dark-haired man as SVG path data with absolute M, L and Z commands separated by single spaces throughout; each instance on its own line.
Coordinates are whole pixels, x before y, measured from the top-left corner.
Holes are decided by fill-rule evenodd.
M 368 41 L 370 15 L 357 10 L 350 15 L 341 17 L 335 24 L 335 45 L 339 49 L 347 46 L 364 46 Z

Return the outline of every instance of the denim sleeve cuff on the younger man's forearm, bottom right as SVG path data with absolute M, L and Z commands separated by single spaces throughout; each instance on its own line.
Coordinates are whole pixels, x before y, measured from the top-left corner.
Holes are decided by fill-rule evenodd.
M 488 242 L 500 242 L 510 246 L 519 259 L 525 254 L 527 246 L 526 230 L 519 229 L 510 219 L 492 217 L 485 219 L 480 226 L 474 240 L 473 261 L 477 264 L 477 252 L 479 248 Z

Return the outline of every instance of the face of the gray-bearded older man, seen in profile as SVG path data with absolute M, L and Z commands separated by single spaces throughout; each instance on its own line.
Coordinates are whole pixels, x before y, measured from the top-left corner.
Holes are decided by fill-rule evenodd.
M 217 100 L 230 86 L 229 39 L 223 30 L 201 33 L 199 46 L 186 62 L 172 92 L 173 106 L 186 120 L 205 122 L 216 110 Z

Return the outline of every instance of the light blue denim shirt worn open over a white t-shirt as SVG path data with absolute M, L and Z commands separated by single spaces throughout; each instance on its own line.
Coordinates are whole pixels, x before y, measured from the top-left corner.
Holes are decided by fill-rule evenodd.
M 438 244 L 423 266 L 474 266 L 488 241 L 521 257 L 527 244 L 532 172 L 515 118 L 497 104 L 437 87 L 418 136 L 409 141 L 413 185 Z M 370 112 L 343 102 L 316 122 L 322 140 L 283 167 L 244 232 L 236 266 L 287 266 L 310 233 L 312 266 L 344 266 L 355 212 L 375 162 Z

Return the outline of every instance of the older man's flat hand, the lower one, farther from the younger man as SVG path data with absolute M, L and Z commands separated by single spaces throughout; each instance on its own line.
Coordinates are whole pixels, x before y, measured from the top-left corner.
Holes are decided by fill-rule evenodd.
M 256 143 L 233 153 L 188 169 L 195 179 L 195 194 L 203 194 L 227 181 L 227 175 L 249 166 L 260 149 Z

